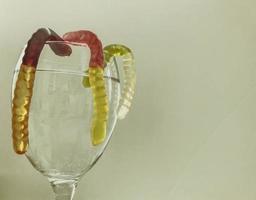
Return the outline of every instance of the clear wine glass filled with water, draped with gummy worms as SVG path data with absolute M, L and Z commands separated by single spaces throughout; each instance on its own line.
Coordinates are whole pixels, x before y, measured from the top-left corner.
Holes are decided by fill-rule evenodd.
M 72 54 L 60 57 L 50 45 L 63 43 Z M 24 50 L 17 63 L 12 96 Z M 97 162 L 106 148 L 118 118 L 121 97 L 116 60 L 104 69 L 109 112 L 106 137 L 98 145 L 91 139 L 93 93 L 86 85 L 90 52 L 85 45 L 48 41 L 42 50 L 29 109 L 29 145 L 26 157 L 46 176 L 56 200 L 71 200 L 80 178 Z

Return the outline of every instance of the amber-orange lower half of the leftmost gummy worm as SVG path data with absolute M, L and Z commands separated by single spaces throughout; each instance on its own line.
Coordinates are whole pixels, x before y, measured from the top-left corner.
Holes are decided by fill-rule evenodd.
M 13 147 L 23 154 L 28 147 L 29 104 L 33 93 L 35 67 L 21 65 L 12 106 Z

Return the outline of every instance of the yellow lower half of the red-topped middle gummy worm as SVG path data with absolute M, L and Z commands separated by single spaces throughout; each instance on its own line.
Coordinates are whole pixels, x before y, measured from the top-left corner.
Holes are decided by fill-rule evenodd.
M 102 67 L 89 67 L 89 85 L 93 95 L 91 139 L 93 145 L 104 142 L 107 132 L 108 99 Z M 86 79 L 84 79 L 86 81 Z M 88 87 L 88 82 L 86 83 Z

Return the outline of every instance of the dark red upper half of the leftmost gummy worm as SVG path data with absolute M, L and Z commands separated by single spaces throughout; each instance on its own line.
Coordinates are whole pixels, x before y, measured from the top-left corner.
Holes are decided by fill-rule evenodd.
M 46 41 L 63 41 L 53 30 L 40 28 L 28 41 L 25 55 L 22 59 L 23 65 L 37 67 L 38 59 Z M 49 44 L 54 53 L 58 56 L 69 56 L 72 52 L 71 48 L 65 44 L 52 43 Z

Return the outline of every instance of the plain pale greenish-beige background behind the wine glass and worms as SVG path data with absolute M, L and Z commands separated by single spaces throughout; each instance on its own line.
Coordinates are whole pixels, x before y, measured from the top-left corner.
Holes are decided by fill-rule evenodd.
M 11 146 L 10 89 L 39 27 L 134 50 L 137 93 L 75 200 L 256 199 L 255 0 L 0 0 L 0 199 L 50 200 Z

